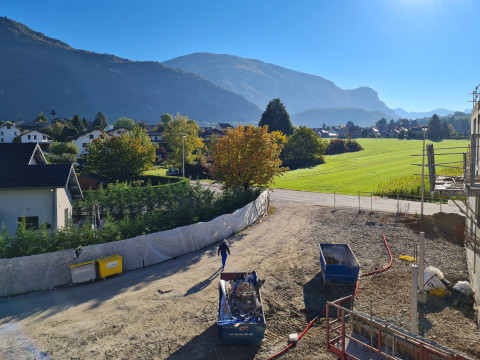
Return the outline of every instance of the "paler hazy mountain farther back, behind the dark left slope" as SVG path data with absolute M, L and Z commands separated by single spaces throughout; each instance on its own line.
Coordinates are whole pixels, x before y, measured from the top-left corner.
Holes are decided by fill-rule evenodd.
M 389 119 L 398 118 L 369 87 L 343 90 L 320 76 L 260 60 L 194 53 L 165 61 L 164 64 L 199 74 L 242 95 L 261 109 L 265 109 L 270 100 L 280 98 L 290 114 L 311 109 L 358 108 L 381 112 Z M 330 119 L 335 122 L 335 112 L 330 111 L 329 114 Z M 354 118 L 350 120 L 355 122 Z

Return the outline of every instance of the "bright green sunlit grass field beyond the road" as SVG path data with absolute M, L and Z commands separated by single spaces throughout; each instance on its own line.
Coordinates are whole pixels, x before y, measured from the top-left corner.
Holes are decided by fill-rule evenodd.
M 421 174 L 423 140 L 356 139 L 363 151 L 325 156 L 325 164 L 286 172 L 274 188 L 356 195 L 372 192 L 388 180 Z M 426 144 L 431 143 L 426 141 Z M 469 140 L 444 140 L 433 143 L 435 154 L 465 152 Z M 463 149 L 439 150 L 463 147 Z M 462 162 L 462 155 L 435 156 L 435 162 Z M 427 159 L 425 158 L 425 164 Z M 437 168 L 437 171 L 442 168 Z M 428 170 L 425 172 L 428 173 Z

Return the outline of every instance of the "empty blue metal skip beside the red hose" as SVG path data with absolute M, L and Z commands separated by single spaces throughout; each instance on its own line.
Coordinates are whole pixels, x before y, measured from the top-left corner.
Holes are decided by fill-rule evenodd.
M 360 264 L 348 244 L 320 244 L 320 264 L 325 284 L 357 283 Z

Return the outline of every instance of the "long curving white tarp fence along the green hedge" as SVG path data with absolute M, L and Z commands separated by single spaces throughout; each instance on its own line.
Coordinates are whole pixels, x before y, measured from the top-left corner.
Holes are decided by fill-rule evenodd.
M 268 190 L 231 214 L 209 222 L 182 226 L 132 239 L 54 253 L 0 259 L 0 296 L 22 294 L 71 283 L 70 265 L 118 254 L 125 271 L 158 264 L 162 261 L 204 248 L 230 237 L 253 224 L 268 210 Z

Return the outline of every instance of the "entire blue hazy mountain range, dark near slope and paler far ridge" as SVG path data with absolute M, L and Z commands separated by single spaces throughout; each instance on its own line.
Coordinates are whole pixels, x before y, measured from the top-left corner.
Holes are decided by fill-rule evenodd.
M 78 50 L 0 17 L 0 120 L 32 121 L 51 108 L 93 120 L 98 111 L 157 123 L 164 113 L 201 125 L 258 124 L 280 98 L 295 125 L 373 125 L 407 117 L 375 90 L 343 90 L 320 76 L 232 55 L 194 53 L 163 63 Z M 405 116 L 407 114 L 407 116 Z M 440 114 L 439 114 L 440 115 Z

